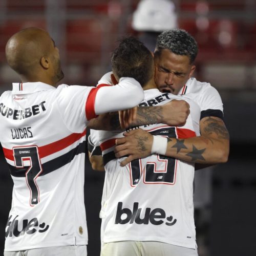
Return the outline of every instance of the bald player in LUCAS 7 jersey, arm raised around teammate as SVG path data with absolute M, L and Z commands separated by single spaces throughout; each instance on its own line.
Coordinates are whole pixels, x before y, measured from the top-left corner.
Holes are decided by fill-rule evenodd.
M 4 255 L 87 255 L 87 124 L 98 114 L 137 105 L 143 90 L 127 77 L 115 87 L 56 88 L 63 78 L 59 51 L 38 28 L 14 34 L 6 58 L 21 82 L 0 97 L 0 141 L 14 183 Z

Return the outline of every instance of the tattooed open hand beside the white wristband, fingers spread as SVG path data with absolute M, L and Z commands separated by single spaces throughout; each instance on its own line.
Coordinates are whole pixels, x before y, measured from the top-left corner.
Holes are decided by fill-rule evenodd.
M 117 158 L 128 155 L 121 162 L 121 166 L 130 163 L 134 159 L 151 155 L 153 135 L 142 130 L 132 130 L 123 134 L 124 138 L 116 139 L 115 156 Z

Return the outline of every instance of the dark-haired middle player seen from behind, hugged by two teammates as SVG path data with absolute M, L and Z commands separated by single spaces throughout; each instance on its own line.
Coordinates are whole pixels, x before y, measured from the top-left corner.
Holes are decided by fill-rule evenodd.
M 145 98 L 139 105 L 143 108 L 182 99 L 157 89 L 153 55 L 137 39 L 123 39 L 111 62 L 117 81 L 124 74 L 141 75 L 138 80 Z M 108 76 L 101 81 L 108 82 Z M 100 145 L 106 172 L 100 212 L 101 256 L 198 255 L 193 216 L 194 165 L 164 157 L 159 146 L 165 139 L 199 136 L 199 105 L 187 101 L 190 114 L 184 126 L 141 126 L 155 135 L 152 155 L 123 167 L 120 162 L 124 159 L 116 159 L 114 153 L 115 141 L 122 132 L 91 130 L 90 141 Z M 140 145 L 144 143 L 144 137 L 137 139 Z

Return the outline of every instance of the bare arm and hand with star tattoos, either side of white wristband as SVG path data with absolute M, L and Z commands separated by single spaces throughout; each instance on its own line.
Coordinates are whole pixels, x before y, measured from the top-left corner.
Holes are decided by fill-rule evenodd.
M 175 139 L 168 138 L 165 155 L 187 162 L 216 164 L 224 163 L 229 154 L 229 134 L 224 122 L 218 117 L 205 117 L 200 121 L 201 136 Z M 125 133 L 116 141 L 116 157 L 129 155 L 125 165 L 137 158 L 151 154 L 153 136 L 141 129 Z

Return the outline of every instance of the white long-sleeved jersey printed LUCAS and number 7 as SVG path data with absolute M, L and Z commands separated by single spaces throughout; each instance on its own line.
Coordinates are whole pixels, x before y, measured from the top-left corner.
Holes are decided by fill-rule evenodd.
M 134 81 L 122 79 L 119 89 L 107 91 L 118 89 L 126 97 L 131 83 L 136 83 L 132 91 L 143 97 Z M 86 125 L 96 117 L 96 106 L 104 109 L 104 102 L 111 100 L 106 88 L 99 88 L 27 82 L 13 83 L 13 90 L 1 95 L 0 141 L 14 183 L 6 251 L 87 244 Z M 98 92 L 108 100 L 102 103 Z M 114 103 L 106 111 L 121 108 L 122 102 Z

